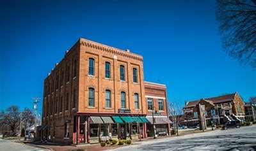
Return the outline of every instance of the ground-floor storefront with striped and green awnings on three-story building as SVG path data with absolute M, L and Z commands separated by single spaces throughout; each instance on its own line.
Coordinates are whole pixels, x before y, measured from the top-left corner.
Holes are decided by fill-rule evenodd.
M 149 121 L 145 117 L 80 115 L 78 120 L 79 134 L 74 134 L 79 140 L 77 143 L 93 143 L 112 138 L 147 138 L 146 129 Z

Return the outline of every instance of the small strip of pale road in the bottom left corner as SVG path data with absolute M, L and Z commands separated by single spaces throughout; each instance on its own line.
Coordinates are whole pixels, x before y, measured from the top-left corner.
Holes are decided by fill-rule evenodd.
M 14 141 L 0 139 L 0 151 L 9 151 L 9 150 L 13 150 L 13 151 L 16 151 L 16 150 L 17 151 L 18 150 L 46 151 L 47 149 L 32 147 L 29 145 L 25 145 L 23 143 L 16 143 Z

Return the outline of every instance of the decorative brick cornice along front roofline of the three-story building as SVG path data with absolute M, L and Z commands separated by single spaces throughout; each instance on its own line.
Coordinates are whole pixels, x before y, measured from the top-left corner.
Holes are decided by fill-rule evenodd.
M 89 47 L 89 48 L 95 48 L 97 50 L 102 50 L 104 52 L 108 52 L 108 53 L 111 53 L 114 55 L 120 55 L 122 57 L 127 57 L 129 59 L 143 61 L 143 58 L 140 55 L 132 54 L 131 52 L 125 52 L 124 50 L 109 47 L 107 45 L 102 45 L 100 43 L 96 43 L 96 42 L 93 42 L 90 40 L 84 40 L 83 38 L 80 38 L 80 45 L 83 45 L 83 46 Z

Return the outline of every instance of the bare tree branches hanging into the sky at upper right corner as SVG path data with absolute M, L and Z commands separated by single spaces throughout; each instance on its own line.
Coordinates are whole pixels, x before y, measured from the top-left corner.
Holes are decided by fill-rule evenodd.
M 256 1 L 218 0 L 216 20 L 225 52 L 256 68 Z

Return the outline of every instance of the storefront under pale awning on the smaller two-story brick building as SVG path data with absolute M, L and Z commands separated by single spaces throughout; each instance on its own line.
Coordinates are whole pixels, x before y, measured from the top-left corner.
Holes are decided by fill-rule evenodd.
M 150 122 L 147 124 L 148 136 L 154 136 L 153 118 L 147 116 L 147 120 Z M 170 134 L 170 121 L 165 116 L 154 116 L 155 134 L 156 136 L 168 136 Z

